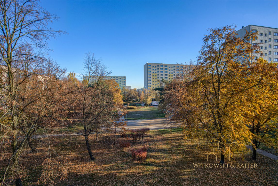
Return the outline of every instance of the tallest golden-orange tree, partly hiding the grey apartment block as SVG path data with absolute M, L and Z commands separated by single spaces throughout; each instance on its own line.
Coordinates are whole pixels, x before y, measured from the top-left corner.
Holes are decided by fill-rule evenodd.
M 246 141 L 250 133 L 241 110 L 234 105 L 242 101 L 244 92 L 259 84 L 245 81 L 253 53 L 259 50 L 246 41 L 255 39 L 256 33 L 246 32 L 239 38 L 232 26 L 209 31 L 203 38 L 197 66 L 165 86 L 164 106 L 170 121 L 182 125 L 185 137 L 221 141 L 228 132 L 234 139 Z M 224 163 L 225 141 L 220 147 L 220 163 Z

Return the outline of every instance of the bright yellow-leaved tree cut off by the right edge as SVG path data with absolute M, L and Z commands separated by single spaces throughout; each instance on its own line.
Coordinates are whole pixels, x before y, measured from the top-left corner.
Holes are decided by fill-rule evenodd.
M 249 69 L 246 81 L 260 83 L 242 95 L 244 101 L 239 107 L 252 135 L 252 159 L 256 160 L 261 143 L 278 149 L 278 68 L 277 64 L 259 58 Z

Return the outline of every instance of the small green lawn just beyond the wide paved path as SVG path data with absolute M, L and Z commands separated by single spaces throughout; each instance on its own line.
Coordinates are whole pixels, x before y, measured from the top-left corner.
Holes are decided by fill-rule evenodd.
M 152 119 L 152 118 L 160 118 L 165 117 L 165 114 L 161 113 L 157 107 L 143 107 L 136 110 L 128 110 L 127 120 L 133 119 Z M 126 116 L 125 116 L 126 118 Z

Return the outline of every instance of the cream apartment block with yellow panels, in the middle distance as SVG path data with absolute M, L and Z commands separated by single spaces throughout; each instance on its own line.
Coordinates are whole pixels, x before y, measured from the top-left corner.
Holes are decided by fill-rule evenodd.
M 144 88 L 148 91 L 161 87 L 162 79 L 171 81 L 186 65 L 146 63 L 144 65 Z

